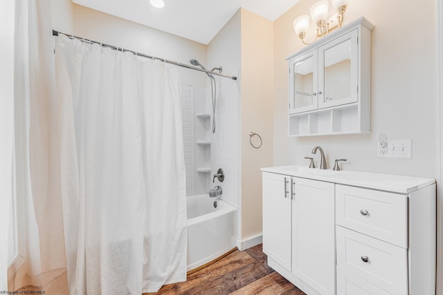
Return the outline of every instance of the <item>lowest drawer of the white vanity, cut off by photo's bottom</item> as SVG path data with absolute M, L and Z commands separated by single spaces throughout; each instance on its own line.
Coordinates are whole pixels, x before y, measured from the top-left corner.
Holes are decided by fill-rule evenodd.
M 390 295 L 359 276 L 337 267 L 337 292 L 340 295 Z

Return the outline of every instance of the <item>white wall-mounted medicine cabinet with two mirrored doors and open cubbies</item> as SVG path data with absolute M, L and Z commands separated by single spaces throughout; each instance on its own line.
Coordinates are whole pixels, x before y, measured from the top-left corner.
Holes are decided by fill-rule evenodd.
M 289 61 L 289 136 L 370 132 L 370 30 L 364 18 Z

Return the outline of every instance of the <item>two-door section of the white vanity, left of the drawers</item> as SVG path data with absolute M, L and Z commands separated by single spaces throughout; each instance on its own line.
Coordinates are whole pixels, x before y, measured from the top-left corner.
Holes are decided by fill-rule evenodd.
M 263 173 L 263 251 L 312 294 L 335 293 L 334 184 Z

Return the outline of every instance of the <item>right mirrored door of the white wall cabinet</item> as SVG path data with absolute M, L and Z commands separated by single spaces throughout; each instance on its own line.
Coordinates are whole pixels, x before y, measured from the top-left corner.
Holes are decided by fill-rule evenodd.
M 319 51 L 319 107 L 357 101 L 357 31 L 322 46 Z

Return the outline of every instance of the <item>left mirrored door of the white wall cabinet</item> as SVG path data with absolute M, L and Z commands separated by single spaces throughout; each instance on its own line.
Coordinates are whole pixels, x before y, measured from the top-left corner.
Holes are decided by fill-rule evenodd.
M 315 53 L 315 54 L 314 54 Z M 300 113 L 317 108 L 317 56 L 316 50 L 291 61 L 291 94 L 289 113 Z

